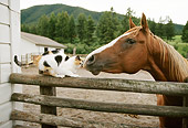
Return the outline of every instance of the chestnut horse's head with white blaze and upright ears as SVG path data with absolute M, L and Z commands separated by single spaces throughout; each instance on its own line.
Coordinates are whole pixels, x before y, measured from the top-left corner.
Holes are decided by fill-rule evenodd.
M 143 13 L 140 26 L 129 19 L 129 30 L 86 56 L 84 67 L 97 75 L 107 73 L 136 73 L 147 66 L 147 34 L 149 28 Z

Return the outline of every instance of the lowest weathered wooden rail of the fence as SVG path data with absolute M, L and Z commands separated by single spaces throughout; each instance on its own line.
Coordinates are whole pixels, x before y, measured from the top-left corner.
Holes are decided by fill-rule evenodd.
M 138 126 L 127 126 L 125 124 L 81 120 L 79 118 L 64 118 L 54 115 L 34 114 L 34 113 L 31 114 L 31 113 L 25 113 L 20 110 L 13 110 L 11 114 L 11 119 L 31 121 L 38 124 L 46 124 L 51 126 L 64 126 L 71 128 L 142 128 Z

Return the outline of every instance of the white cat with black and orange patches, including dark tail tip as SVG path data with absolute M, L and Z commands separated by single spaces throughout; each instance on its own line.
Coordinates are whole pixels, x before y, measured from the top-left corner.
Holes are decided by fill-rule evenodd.
M 14 56 L 14 62 L 21 66 L 17 56 Z M 61 51 L 48 51 L 36 60 L 40 74 L 62 78 L 65 76 L 79 77 L 76 71 L 82 66 L 82 63 L 83 60 L 80 56 L 69 57 Z

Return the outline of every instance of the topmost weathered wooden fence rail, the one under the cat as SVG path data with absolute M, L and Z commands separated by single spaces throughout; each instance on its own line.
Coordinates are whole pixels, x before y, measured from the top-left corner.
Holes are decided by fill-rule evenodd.
M 164 94 L 173 96 L 188 95 L 188 84 L 186 83 L 145 82 L 116 78 L 56 78 L 43 75 L 28 75 L 17 73 L 10 75 L 10 83 L 51 87 L 73 87 L 85 89 Z

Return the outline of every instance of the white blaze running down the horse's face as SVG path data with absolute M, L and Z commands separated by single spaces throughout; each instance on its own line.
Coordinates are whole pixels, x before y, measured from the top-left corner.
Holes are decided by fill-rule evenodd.
M 106 50 L 107 47 L 113 46 L 121 38 L 126 36 L 126 35 L 128 35 L 128 34 L 130 34 L 130 33 L 122 34 L 122 35 L 119 35 L 118 38 L 116 38 L 115 40 L 113 40 L 112 42 L 109 42 L 108 44 L 103 45 L 103 46 L 94 50 L 93 52 L 91 52 L 91 53 L 86 56 L 85 62 L 86 62 L 92 55 L 94 55 L 94 54 L 96 54 L 96 53 L 101 53 L 101 52 L 103 52 L 104 50 Z M 85 65 L 85 62 L 84 62 L 84 65 Z

